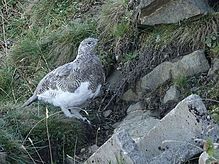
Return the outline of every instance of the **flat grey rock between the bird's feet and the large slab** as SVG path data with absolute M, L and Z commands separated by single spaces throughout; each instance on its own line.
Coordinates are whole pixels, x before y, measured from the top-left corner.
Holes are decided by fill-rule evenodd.
M 138 142 L 153 128 L 159 120 L 150 116 L 150 111 L 144 112 L 143 106 L 138 102 L 128 108 L 128 115 L 118 125 L 114 132 L 126 130 L 132 139 Z

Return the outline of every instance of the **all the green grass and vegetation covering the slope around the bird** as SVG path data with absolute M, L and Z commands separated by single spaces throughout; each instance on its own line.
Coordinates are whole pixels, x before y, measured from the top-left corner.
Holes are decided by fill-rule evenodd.
M 193 50 L 206 49 L 210 59 L 219 52 L 218 14 L 138 30 L 127 0 L 4 0 L 0 8 L 0 148 L 12 163 L 51 161 L 50 148 L 53 162 L 62 163 L 66 154 L 74 156 L 88 140 L 95 142 L 85 133 L 91 131 L 63 118 L 57 108 L 48 108 L 49 118 L 44 105 L 19 108 L 48 71 L 75 58 L 85 37 L 100 39 L 106 74 L 123 65 L 128 84 L 161 62 Z M 5 46 L 8 42 L 13 46 Z M 188 95 L 194 79 L 182 77 L 175 83 Z M 218 82 L 199 84 L 196 93 L 219 99 Z M 218 105 L 209 109 L 217 113 Z

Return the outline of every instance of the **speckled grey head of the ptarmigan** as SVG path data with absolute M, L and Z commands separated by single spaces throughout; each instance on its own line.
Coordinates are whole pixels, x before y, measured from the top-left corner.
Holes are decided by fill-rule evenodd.
M 84 39 L 78 48 L 78 55 L 87 54 L 94 51 L 97 45 L 98 39 L 95 38 L 86 38 Z

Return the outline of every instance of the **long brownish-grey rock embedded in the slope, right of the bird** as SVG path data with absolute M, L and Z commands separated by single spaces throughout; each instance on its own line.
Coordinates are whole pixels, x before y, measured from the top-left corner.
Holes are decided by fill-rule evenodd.
M 143 90 L 155 90 L 162 84 L 180 76 L 193 76 L 210 68 L 203 50 L 194 51 L 177 62 L 164 62 L 140 80 Z

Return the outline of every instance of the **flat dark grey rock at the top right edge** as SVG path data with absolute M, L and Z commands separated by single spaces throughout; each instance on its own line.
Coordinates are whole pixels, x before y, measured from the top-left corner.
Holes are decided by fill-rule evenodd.
M 205 0 L 141 0 L 140 23 L 144 25 L 178 23 L 207 12 L 212 12 Z

